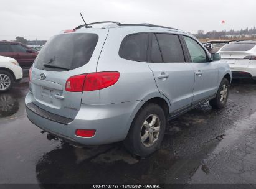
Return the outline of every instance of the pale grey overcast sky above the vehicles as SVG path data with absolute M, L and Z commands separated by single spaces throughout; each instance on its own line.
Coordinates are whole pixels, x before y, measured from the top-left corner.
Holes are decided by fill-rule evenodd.
M 255 0 L 0 0 L 0 39 L 47 40 L 60 30 L 85 21 L 151 23 L 197 30 L 245 29 L 256 26 Z M 222 20 L 225 24 L 222 24 Z

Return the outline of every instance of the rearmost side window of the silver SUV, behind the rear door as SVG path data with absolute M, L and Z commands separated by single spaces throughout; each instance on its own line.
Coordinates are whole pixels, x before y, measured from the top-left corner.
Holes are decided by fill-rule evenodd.
M 121 42 L 119 55 L 121 58 L 146 62 L 148 51 L 148 34 L 132 34 Z

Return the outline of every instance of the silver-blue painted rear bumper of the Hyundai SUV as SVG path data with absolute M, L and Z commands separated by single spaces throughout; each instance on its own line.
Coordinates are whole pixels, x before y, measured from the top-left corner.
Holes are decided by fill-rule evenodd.
M 34 101 L 31 93 L 25 103 L 29 120 L 42 130 L 60 137 L 67 142 L 82 145 L 100 145 L 123 141 L 130 129 L 131 122 L 143 101 L 131 101 L 116 104 L 82 104 L 77 116 L 67 124 L 58 122 L 55 114 L 39 113 L 29 108 Z M 50 115 L 50 116 L 49 116 Z M 75 136 L 77 129 L 96 129 L 93 137 Z

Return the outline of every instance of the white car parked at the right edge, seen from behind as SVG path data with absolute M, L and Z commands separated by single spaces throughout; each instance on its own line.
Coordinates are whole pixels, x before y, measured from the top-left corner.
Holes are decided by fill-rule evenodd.
M 229 42 L 218 51 L 222 60 L 227 60 L 232 78 L 256 80 L 256 40 Z

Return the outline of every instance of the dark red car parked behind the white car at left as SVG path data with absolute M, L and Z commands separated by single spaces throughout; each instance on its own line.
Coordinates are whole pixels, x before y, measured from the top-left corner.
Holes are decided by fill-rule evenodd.
M 31 67 L 38 52 L 19 42 L 0 40 L 0 55 L 17 60 L 23 70 Z

